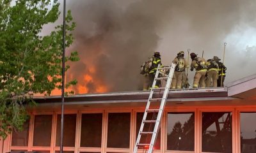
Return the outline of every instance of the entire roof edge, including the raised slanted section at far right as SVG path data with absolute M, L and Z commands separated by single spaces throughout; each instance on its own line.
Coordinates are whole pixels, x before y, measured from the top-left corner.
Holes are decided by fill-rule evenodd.
M 256 90 L 256 74 L 241 78 L 235 82 L 230 82 L 225 87 L 205 88 L 205 89 L 171 89 L 168 93 L 167 101 L 209 101 L 209 100 L 228 100 L 244 99 L 254 95 Z M 155 92 L 156 93 L 156 92 Z M 247 93 L 247 94 L 246 94 Z M 127 92 L 108 92 L 101 94 L 77 94 L 65 97 L 65 104 L 93 104 L 93 103 L 129 103 L 145 102 L 150 91 L 127 91 Z M 161 97 L 163 91 L 154 94 L 154 98 Z M 61 103 L 61 96 L 34 97 L 36 103 Z

